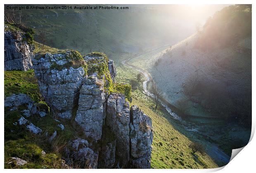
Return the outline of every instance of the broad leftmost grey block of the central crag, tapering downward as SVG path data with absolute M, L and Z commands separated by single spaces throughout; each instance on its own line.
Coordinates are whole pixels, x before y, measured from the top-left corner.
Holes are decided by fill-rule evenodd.
M 65 55 L 46 54 L 39 60 L 33 60 L 33 68 L 40 92 L 50 106 L 51 111 L 60 118 L 71 119 L 74 102 L 79 97 L 79 88 L 85 79 L 85 72 L 82 67 L 74 69 L 69 67 L 61 69 L 52 69 L 52 66 L 64 65 L 68 62 Z

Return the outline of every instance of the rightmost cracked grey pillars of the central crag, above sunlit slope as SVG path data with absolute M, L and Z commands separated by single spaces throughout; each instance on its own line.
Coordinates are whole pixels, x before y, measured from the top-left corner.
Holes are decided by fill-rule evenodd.
M 130 108 L 124 95 L 109 95 L 99 166 L 150 168 L 152 140 L 152 120 L 137 106 Z

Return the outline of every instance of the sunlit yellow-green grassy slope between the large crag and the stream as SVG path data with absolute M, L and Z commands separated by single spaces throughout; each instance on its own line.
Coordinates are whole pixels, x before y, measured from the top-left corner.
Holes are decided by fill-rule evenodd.
M 129 83 L 135 79 L 137 72 L 128 67 L 118 67 L 116 81 Z M 214 161 L 208 156 L 195 159 L 188 148 L 190 139 L 180 133 L 173 124 L 175 121 L 164 108 L 154 109 L 151 98 L 142 93 L 142 84 L 132 92 L 132 104 L 138 105 L 142 111 L 152 118 L 154 140 L 152 144 L 152 168 L 216 168 Z M 184 165 L 183 165 L 184 164 Z

